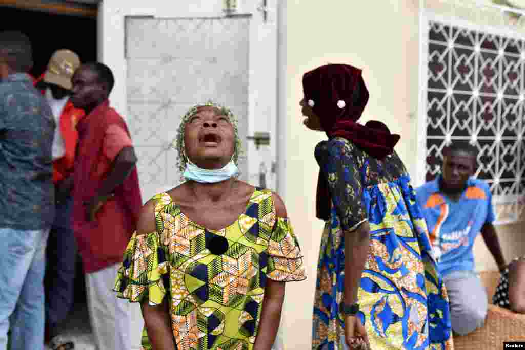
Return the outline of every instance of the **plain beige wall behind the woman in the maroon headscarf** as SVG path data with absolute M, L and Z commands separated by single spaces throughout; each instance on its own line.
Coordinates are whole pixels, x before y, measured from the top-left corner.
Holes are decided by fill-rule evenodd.
M 298 234 L 308 279 L 288 283 L 285 319 L 287 349 L 310 347 L 316 266 L 323 223 L 315 218 L 319 167 L 314 146 L 325 138 L 302 125 L 302 74 L 325 63 L 363 69 L 370 100 L 363 121 L 377 118 L 401 134 L 396 151 L 415 177 L 419 93 L 419 8 L 417 0 L 288 1 L 287 115 L 281 145 L 284 174 L 279 190 Z M 507 257 L 525 251 L 521 225 L 498 227 Z M 481 241 L 479 239 L 478 241 Z M 514 242 L 520 242 L 515 244 Z M 495 269 L 482 242 L 476 243 L 478 269 Z

